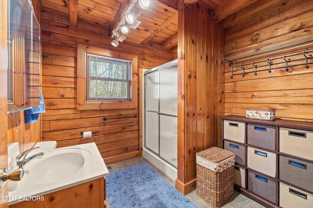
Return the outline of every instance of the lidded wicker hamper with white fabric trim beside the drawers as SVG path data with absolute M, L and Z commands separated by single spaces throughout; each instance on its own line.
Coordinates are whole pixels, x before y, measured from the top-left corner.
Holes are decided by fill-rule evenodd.
M 196 153 L 197 195 L 214 208 L 234 193 L 234 153 L 212 147 Z

